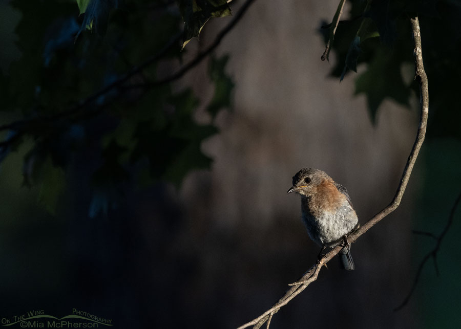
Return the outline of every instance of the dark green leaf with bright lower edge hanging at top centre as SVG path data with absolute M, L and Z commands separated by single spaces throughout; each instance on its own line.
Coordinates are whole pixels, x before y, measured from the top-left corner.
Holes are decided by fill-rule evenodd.
M 232 15 L 226 0 L 179 0 L 179 9 L 184 20 L 182 49 L 192 38 L 199 37 L 209 18 Z

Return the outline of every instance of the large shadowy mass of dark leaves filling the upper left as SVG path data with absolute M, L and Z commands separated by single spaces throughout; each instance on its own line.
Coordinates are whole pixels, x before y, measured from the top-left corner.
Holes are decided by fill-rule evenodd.
M 77 4 L 11 3 L 22 13 L 15 30 L 21 55 L 0 71 L 0 162 L 24 155 L 24 185 L 38 186 L 39 202 L 54 212 L 76 159 L 86 159 L 91 174 L 79 181 L 91 182 L 94 217 L 116 207 L 127 186 L 160 180 L 179 186 L 190 170 L 211 164 L 201 143 L 218 130 L 213 120 L 198 124 L 194 114 L 204 106 L 214 118 L 231 106 L 228 57 L 209 63 L 215 86 L 209 104 L 190 88 L 178 91 L 174 79 L 155 82 L 182 60 L 181 14 L 183 33 L 193 37 L 209 17 L 230 9 L 225 1 Z

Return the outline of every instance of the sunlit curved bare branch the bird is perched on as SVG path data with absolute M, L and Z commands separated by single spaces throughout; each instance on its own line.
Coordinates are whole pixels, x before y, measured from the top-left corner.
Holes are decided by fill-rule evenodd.
M 427 118 L 429 114 L 429 92 L 427 76 L 423 66 L 421 32 L 418 17 L 411 18 L 411 26 L 414 40 L 413 55 L 415 63 L 415 80 L 418 82 L 420 86 L 420 125 L 418 127 L 416 139 L 411 149 L 410 156 L 408 157 L 407 163 L 405 165 L 405 169 L 402 174 L 402 179 L 400 180 L 399 187 L 397 188 L 397 191 L 391 203 L 383 210 L 381 210 L 379 213 L 375 214 L 362 227 L 350 233 L 347 237 L 349 243 L 355 242 L 355 240 L 357 240 L 362 234 L 364 234 L 374 225 L 378 224 L 378 222 L 380 222 L 384 217 L 386 217 L 397 207 L 399 207 L 400 202 L 402 200 L 402 196 L 405 192 L 405 188 L 407 187 L 411 171 L 413 169 L 414 163 L 421 149 L 421 146 L 423 145 L 424 137 L 426 135 Z M 343 247 L 344 246 L 342 245 L 336 246 L 330 251 L 328 251 L 326 254 L 324 254 L 322 258 L 318 260 L 317 265 L 312 266 L 298 282 L 294 283 L 292 287 L 285 293 L 285 295 L 283 295 L 282 298 L 280 298 L 279 301 L 276 304 L 274 304 L 274 306 L 272 306 L 269 310 L 265 311 L 256 319 L 241 325 L 238 329 L 243 329 L 252 325 L 254 326 L 254 328 L 260 328 L 261 325 L 263 325 L 264 322 L 266 322 L 271 317 L 271 315 L 278 312 L 280 308 L 282 308 L 282 306 L 286 305 L 291 299 L 293 299 L 304 289 L 306 289 L 311 282 L 315 281 L 323 265 L 325 265 L 331 258 L 336 256 Z

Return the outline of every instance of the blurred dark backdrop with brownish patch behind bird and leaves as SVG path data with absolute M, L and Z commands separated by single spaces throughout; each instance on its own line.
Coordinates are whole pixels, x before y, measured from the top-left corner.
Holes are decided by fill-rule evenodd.
M 75 3 L 57 3 L 74 6 L 69 12 L 78 16 Z M 233 12 L 241 4 L 231 3 Z M 14 72 L 10 65 L 24 52 L 16 46 L 15 27 L 25 14 L 11 5 L 0 2 L 5 75 Z M 216 116 L 206 107 L 215 88 L 208 59 L 173 83 L 173 92 L 189 86 L 200 100 L 194 122 L 212 122 L 219 130 L 198 146 L 213 159 L 209 169 L 188 170 L 179 184 L 167 175 L 145 184 L 122 182 L 116 203 L 97 205 L 92 175 L 102 161 L 100 140 L 115 125 L 113 114 L 85 121 L 86 138 L 96 142 L 87 140 L 72 153 L 54 210 L 40 202 L 46 184 L 23 184 L 27 147 L 35 140 L 26 139 L 27 147 L 10 152 L 0 164 L 0 318 L 35 309 L 60 317 L 76 308 L 113 319 L 118 328 L 235 328 L 267 310 L 316 260 L 319 248 L 301 222 L 300 200 L 286 194 L 300 168 L 320 168 L 345 185 L 360 223 L 385 207 L 414 142 L 418 95 L 409 94 L 409 106 L 385 98 L 373 123 L 369 99 L 354 95 L 356 76 L 366 72 L 367 64 L 359 64 L 358 75 L 346 75 L 339 83 L 330 72 L 342 65 L 340 55 L 332 52 L 329 63 L 320 60 L 325 43 L 319 24 L 331 19 L 336 6 L 277 1 L 250 7 L 216 51 L 217 57 L 229 55 L 226 72 L 235 83 L 232 106 Z M 200 42 L 188 43 L 182 62 L 205 49 L 231 19 L 210 20 Z M 432 53 L 439 48 L 425 40 L 421 20 L 423 56 L 437 58 Z M 105 40 L 113 40 L 114 29 L 109 24 Z M 412 48 L 410 34 L 400 40 Z M 451 40 L 457 47 L 458 38 Z M 142 35 L 133 42 L 143 42 Z M 453 56 L 459 55 L 457 50 Z M 129 62 L 148 55 L 133 55 Z M 156 74 L 167 75 L 179 65 L 162 63 Z M 400 65 L 407 86 L 412 70 L 411 62 Z M 450 92 L 460 91 L 457 69 L 443 82 L 446 87 L 435 86 L 432 81 L 439 80 L 431 79 L 431 70 L 440 67 L 428 69 L 431 105 L 438 111 L 430 109 L 438 121 L 429 125 L 428 134 L 431 127 L 444 131 L 439 121 L 454 133 L 428 136 L 401 206 L 352 245 L 356 270 L 341 271 L 333 259 L 315 283 L 274 316 L 271 327 L 461 325 L 459 209 L 438 251 L 439 276 L 428 262 L 408 304 L 393 311 L 435 243 L 412 230 L 442 232 L 461 190 L 460 102 Z M 446 98 L 431 94 L 433 85 L 447 91 Z M 438 109 L 439 103 L 450 107 Z M 18 113 L 1 112 L 1 123 L 20 118 Z M 150 142 L 156 142 L 154 137 Z M 131 173 L 138 167 L 125 169 Z M 92 213 L 92 207 L 107 211 Z

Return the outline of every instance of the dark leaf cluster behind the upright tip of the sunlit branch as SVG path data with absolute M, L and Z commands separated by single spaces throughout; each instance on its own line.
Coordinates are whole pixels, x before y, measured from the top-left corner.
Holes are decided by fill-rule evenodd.
M 349 18 L 340 21 L 332 50 L 336 65 L 331 74 L 341 80 L 348 71 L 365 70 L 355 78 L 355 94 L 367 98 L 370 118 L 376 120 L 378 108 L 390 98 L 408 106 L 417 85 L 411 82 L 412 42 L 409 17 L 418 16 L 424 48 L 424 62 L 431 81 L 431 115 L 428 137 L 461 138 L 461 111 L 455 96 L 461 90 L 456 78 L 461 73 L 457 59 L 461 3 L 450 0 L 368 0 L 352 1 Z M 324 24 L 322 24 L 324 26 Z M 325 27 L 325 26 L 324 26 Z M 322 28 L 325 42 L 330 30 Z M 409 82 L 410 81 L 410 82 Z M 417 95 L 417 94 L 416 94 Z M 451 120 L 447 120 L 448 115 Z

